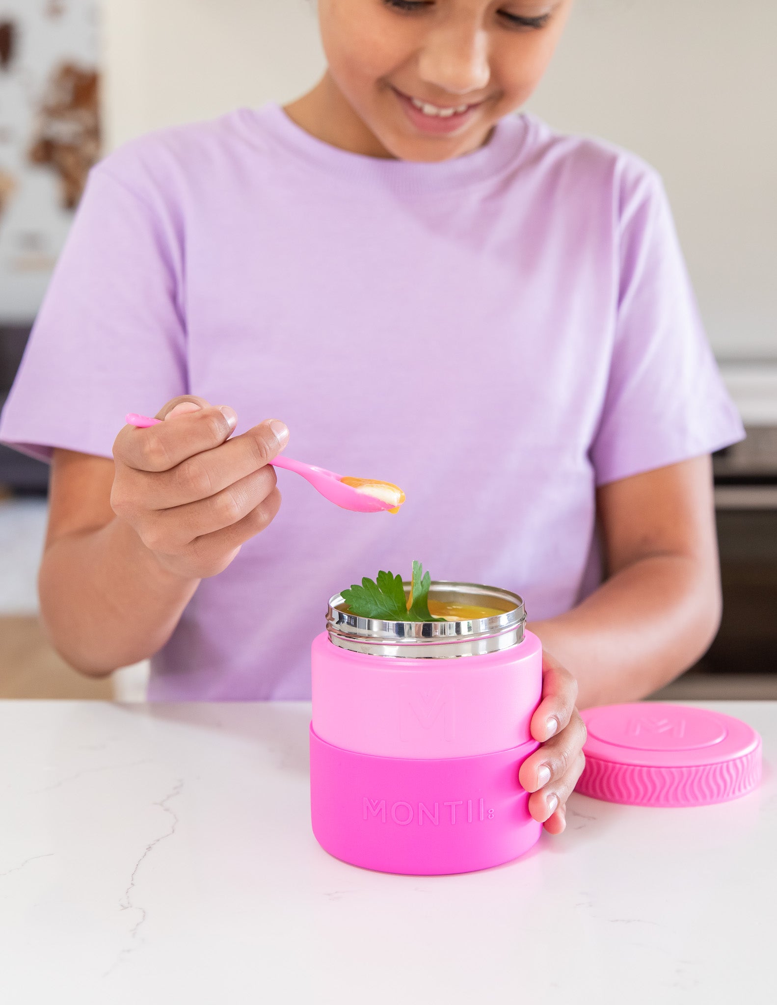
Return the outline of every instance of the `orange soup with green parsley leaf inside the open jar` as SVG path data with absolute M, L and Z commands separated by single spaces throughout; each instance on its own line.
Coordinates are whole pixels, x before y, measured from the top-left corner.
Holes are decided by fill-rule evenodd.
M 343 590 L 342 596 L 351 614 L 382 621 L 471 621 L 504 614 L 496 607 L 430 601 L 430 586 L 429 573 L 423 571 L 420 562 L 413 562 L 409 596 L 405 594 L 402 577 L 383 570 L 374 580 L 365 576 L 361 586 L 354 583 Z

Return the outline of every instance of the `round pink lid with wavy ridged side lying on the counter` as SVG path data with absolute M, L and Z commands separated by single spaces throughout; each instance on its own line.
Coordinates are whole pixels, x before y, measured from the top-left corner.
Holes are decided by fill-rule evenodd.
M 581 713 L 588 730 L 577 791 L 640 806 L 703 806 L 761 781 L 761 738 L 720 712 L 644 701 Z

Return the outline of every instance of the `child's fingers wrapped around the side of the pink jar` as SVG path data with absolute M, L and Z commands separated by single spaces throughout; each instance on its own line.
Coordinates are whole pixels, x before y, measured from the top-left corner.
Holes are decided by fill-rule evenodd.
M 567 825 L 566 802 L 585 766 L 586 731 L 575 708 L 577 681 L 543 652 L 543 694 L 532 717 L 532 736 L 542 746 L 521 765 L 519 780 L 529 797 L 529 812 L 551 834 Z

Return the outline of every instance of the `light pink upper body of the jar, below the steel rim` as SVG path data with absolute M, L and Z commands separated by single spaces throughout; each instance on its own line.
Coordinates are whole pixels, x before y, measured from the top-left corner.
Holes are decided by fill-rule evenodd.
M 371 656 L 313 643 L 313 727 L 322 740 L 360 754 L 462 758 L 532 739 L 542 693 L 542 646 L 520 645 L 453 659 Z

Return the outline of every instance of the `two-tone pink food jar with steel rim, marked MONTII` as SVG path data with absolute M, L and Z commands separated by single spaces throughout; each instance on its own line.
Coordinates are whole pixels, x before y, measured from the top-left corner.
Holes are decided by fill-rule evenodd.
M 529 724 L 542 692 L 524 603 L 444 582 L 429 601 L 489 616 L 380 621 L 337 595 L 313 643 L 314 834 L 335 857 L 382 872 L 488 868 L 542 830 L 518 779 L 538 747 Z

